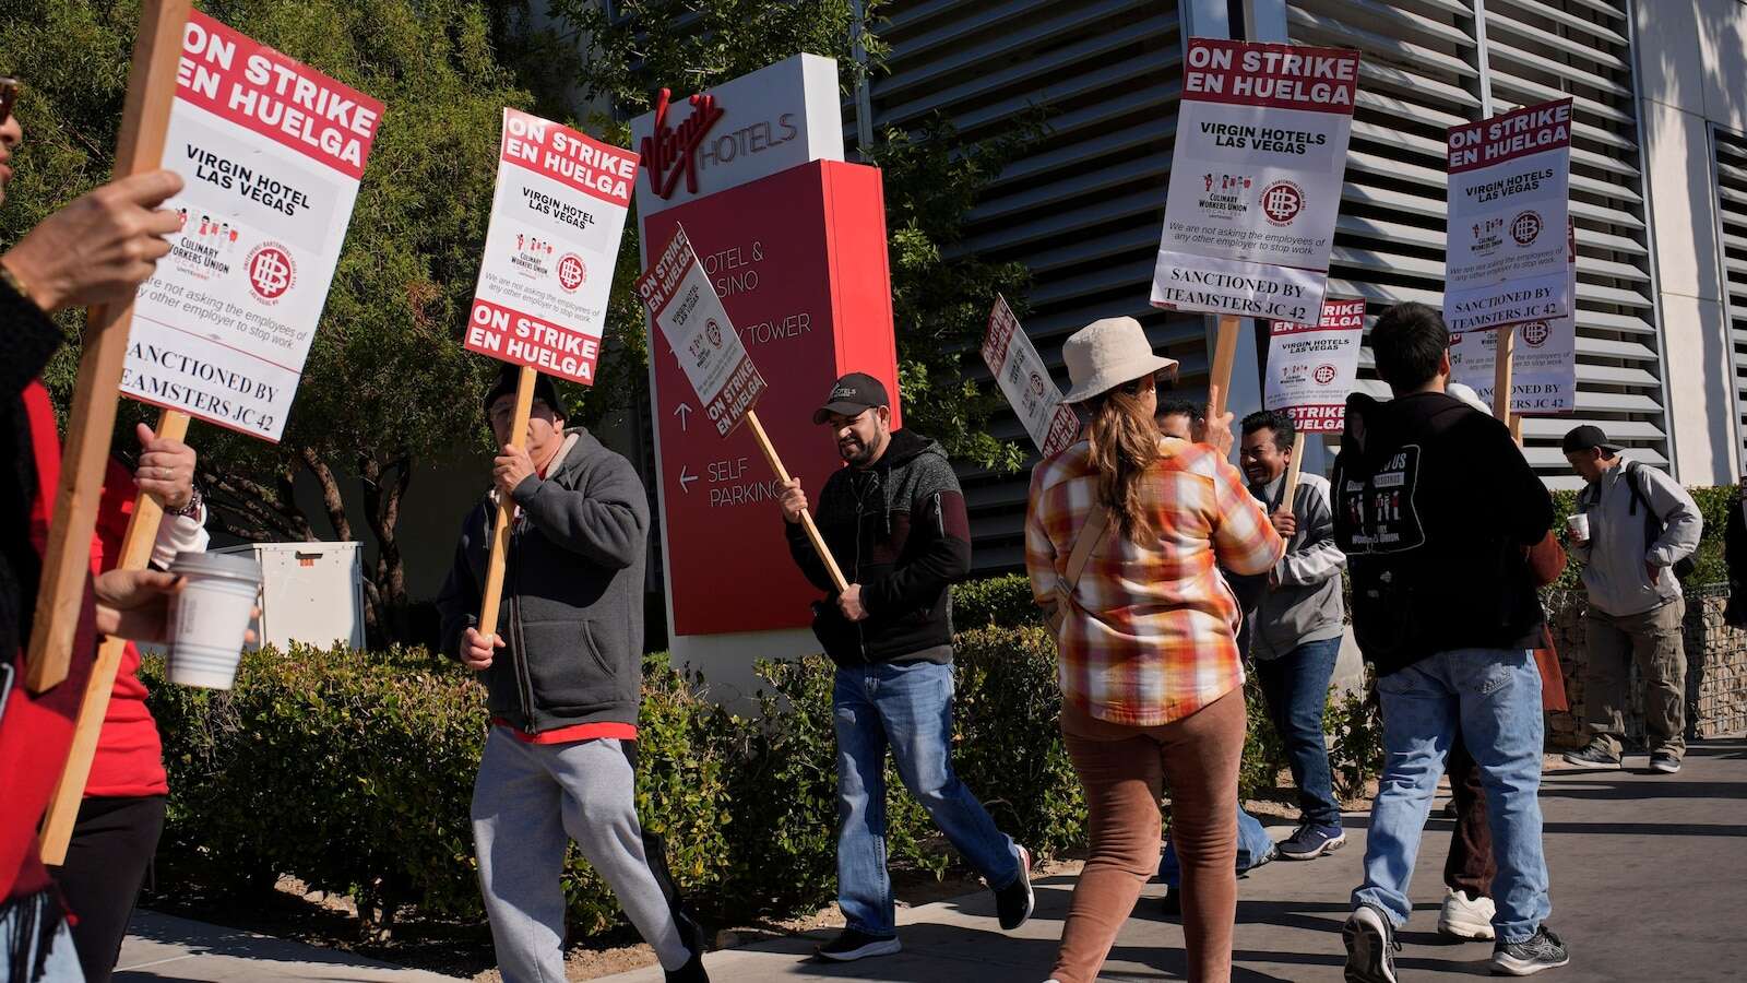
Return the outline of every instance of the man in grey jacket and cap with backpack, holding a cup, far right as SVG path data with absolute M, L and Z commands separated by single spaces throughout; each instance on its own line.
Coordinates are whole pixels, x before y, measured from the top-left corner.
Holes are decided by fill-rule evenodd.
M 1585 616 L 1590 668 L 1583 687 L 1590 743 L 1565 761 L 1619 768 L 1626 663 L 1635 659 L 1649 687 L 1644 701 L 1649 768 L 1674 775 L 1686 754 L 1681 577 L 1693 568 L 1705 523 L 1686 488 L 1626 458 L 1600 427 L 1574 429 L 1562 448 L 1588 483 L 1578 493 L 1571 556 L 1583 563 L 1583 586 L 1590 593 Z

